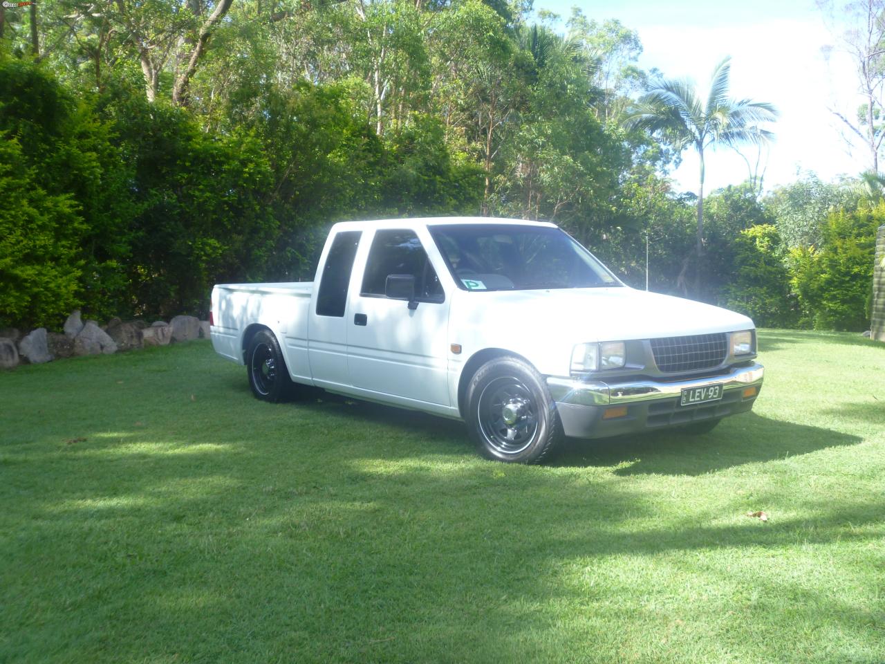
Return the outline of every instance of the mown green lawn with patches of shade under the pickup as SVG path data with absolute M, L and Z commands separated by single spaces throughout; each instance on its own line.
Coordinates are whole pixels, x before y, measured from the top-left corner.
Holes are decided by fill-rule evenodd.
M 885 344 L 760 340 L 754 413 L 547 467 L 205 342 L 0 374 L 0 662 L 881 664 Z

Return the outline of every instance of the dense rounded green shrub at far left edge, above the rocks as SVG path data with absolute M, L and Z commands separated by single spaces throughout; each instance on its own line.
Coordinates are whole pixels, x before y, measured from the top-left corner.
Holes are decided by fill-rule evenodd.
M 6 186 L 28 192 L 4 197 L 4 212 L 13 215 L 10 222 L 30 247 L 16 249 L 12 229 L 4 234 L 9 248 L 0 260 L 15 266 L 19 278 L 6 293 L 16 305 L 0 307 L 0 318 L 26 327 L 49 323 L 81 302 L 96 315 L 117 313 L 127 301 L 121 265 L 128 256 L 130 197 L 111 127 L 88 100 L 75 100 L 40 66 L 23 60 L 0 58 L 0 100 Z M 20 278 L 28 271 L 30 278 Z M 38 286 L 36 274 L 44 274 L 45 283 Z M 58 279 L 51 287 L 50 274 Z

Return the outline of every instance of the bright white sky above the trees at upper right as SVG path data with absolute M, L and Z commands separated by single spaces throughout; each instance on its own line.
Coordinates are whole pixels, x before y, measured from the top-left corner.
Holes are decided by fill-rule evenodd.
M 688 78 L 704 97 L 713 68 L 730 56 L 732 97 L 770 102 L 781 112 L 770 127 L 775 141 L 766 189 L 795 181 L 800 169 L 830 181 L 869 167 L 862 149 L 846 145 L 844 126 L 831 111 L 853 117 L 861 103 L 854 66 L 838 47 L 844 15 L 825 16 L 813 0 L 535 0 L 535 11 L 563 19 L 573 6 L 589 19 L 620 19 L 643 43 L 639 66 Z M 821 47 L 827 44 L 835 49 L 825 57 Z M 755 161 L 755 148 L 744 153 Z M 705 192 L 747 178 L 747 164 L 734 151 L 705 157 Z M 696 191 L 696 155 L 686 151 L 671 176 L 677 190 Z

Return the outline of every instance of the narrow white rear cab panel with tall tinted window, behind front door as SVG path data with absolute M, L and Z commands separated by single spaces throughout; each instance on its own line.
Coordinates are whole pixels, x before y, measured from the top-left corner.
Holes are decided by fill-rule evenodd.
M 339 231 L 330 238 L 319 259 L 323 266 L 314 284 L 307 356 L 311 363 L 313 382 L 320 387 L 350 383 L 347 372 L 347 295 L 353 259 L 357 255 L 362 231 Z

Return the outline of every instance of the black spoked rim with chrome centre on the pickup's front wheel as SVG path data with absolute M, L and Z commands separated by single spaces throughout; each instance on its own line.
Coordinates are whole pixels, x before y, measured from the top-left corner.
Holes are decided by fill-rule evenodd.
M 538 412 L 532 391 L 515 376 L 502 376 L 483 388 L 477 415 L 482 437 L 503 455 L 519 454 L 535 440 Z

